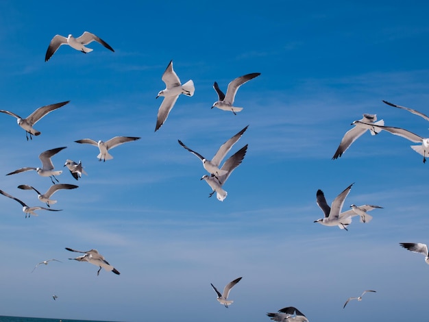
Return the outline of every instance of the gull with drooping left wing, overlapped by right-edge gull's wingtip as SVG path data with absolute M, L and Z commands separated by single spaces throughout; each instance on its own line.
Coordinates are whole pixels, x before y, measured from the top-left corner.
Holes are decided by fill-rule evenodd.
M 374 128 L 371 125 L 384 125 L 384 121 L 377 121 L 376 114 L 363 114 L 363 118 L 358 121 L 354 121 L 352 125 L 354 125 L 354 127 L 344 134 L 338 149 L 336 149 L 334 156 L 332 157 L 332 160 L 340 158 L 345 150 L 347 150 L 362 134 L 367 132 L 368 129 L 371 135 L 378 134 L 381 129 Z

